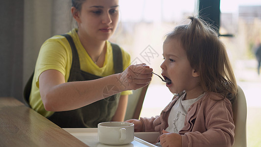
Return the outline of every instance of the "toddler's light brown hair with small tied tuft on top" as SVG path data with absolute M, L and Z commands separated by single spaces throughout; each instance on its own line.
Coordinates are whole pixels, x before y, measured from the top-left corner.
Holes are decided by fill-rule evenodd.
M 219 93 L 233 103 L 237 82 L 224 44 L 210 25 L 196 17 L 189 19 L 189 24 L 179 25 L 168 33 L 165 42 L 179 39 L 191 67 L 199 73 L 203 90 Z

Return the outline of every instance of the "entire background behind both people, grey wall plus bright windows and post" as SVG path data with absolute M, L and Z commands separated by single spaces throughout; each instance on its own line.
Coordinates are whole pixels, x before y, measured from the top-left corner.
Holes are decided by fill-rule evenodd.
M 260 147 L 261 75 L 254 54 L 261 41 L 261 0 L 119 0 L 119 26 L 110 41 L 160 74 L 164 36 L 176 25 L 200 16 L 219 28 L 237 84 L 247 101 L 247 145 Z M 43 42 L 71 30 L 70 0 L 0 0 L 0 97 L 23 100 Z M 173 95 L 153 76 L 141 117 L 160 115 Z

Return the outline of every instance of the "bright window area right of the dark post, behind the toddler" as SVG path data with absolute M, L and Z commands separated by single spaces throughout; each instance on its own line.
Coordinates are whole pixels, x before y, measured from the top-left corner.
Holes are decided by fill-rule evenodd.
M 247 146 L 259 147 L 261 141 L 261 75 L 258 75 L 255 46 L 261 42 L 261 1 L 220 0 L 220 33 L 227 46 L 237 84 L 247 101 Z

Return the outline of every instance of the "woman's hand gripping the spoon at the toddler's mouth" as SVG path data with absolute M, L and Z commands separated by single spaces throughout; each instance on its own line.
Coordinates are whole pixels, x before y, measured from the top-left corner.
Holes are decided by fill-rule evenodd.
M 120 89 L 136 90 L 149 84 L 153 69 L 146 64 L 130 65 L 125 71 L 119 73 Z

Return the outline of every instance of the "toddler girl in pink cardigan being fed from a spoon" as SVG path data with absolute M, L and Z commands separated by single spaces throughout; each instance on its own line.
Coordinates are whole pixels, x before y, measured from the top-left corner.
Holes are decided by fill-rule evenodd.
M 198 18 L 190 20 L 167 34 L 163 45 L 162 75 L 177 96 L 160 116 L 127 122 L 135 131 L 161 132 L 162 147 L 231 147 L 235 76 L 217 33 Z

